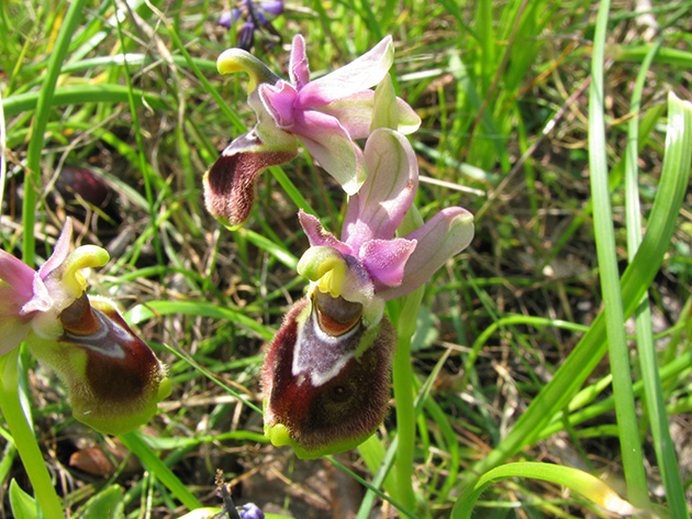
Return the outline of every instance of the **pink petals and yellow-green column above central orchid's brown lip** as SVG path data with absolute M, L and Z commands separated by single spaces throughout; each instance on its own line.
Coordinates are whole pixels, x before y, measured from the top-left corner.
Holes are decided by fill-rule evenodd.
M 360 302 L 375 323 L 384 301 L 411 294 L 471 242 L 473 217 L 466 209 L 443 209 L 402 238 L 395 233 L 413 205 L 418 167 L 409 141 L 399 132 L 372 132 L 365 147 L 370 176 L 348 201 L 342 240 L 320 221 L 300 212 L 312 247 L 298 269 L 333 297 Z

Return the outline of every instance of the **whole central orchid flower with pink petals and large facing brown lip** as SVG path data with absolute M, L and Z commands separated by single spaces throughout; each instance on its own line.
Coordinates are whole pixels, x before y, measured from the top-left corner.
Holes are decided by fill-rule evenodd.
M 378 129 L 364 156 L 369 176 L 348 201 L 342 240 L 299 213 L 311 247 L 298 270 L 312 283 L 265 360 L 265 432 L 299 457 L 350 449 L 381 423 L 395 342 L 384 301 L 414 291 L 473 235 L 472 216 L 454 207 L 398 238 L 417 189 L 413 148 Z

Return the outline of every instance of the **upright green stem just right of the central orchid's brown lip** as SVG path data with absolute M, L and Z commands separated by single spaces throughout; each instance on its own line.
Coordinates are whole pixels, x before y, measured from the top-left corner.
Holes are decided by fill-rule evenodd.
M 399 301 L 399 312 L 392 316 L 397 328 L 397 353 L 394 355 L 393 382 L 397 402 L 397 499 L 409 510 L 415 508 L 413 494 L 413 454 L 415 450 L 415 408 L 413 404 L 413 369 L 411 367 L 411 338 L 415 332 L 418 308 L 424 287 Z

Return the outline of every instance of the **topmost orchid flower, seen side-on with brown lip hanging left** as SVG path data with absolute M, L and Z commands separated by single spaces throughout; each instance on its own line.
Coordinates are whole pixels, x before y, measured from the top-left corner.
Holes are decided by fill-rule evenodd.
M 362 151 L 356 140 L 370 132 L 375 91 L 394 59 L 391 36 L 348 65 L 310 80 L 305 42 L 293 38 L 289 80 L 274 75 L 252 54 L 224 51 L 216 62 L 221 74 L 246 71 L 250 77 L 248 103 L 257 124 L 235 139 L 204 176 L 208 210 L 232 230 L 249 218 L 257 175 L 284 164 L 298 154 L 299 142 L 348 195 L 366 178 Z M 421 119 L 397 99 L 398 130 L 415 131 Z

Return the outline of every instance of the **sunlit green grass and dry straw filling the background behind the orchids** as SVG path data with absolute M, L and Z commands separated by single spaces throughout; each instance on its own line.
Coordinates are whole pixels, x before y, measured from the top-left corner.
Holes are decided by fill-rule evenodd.
M 392 410 L 376 437 L 333 460 L 336 468 L 264 441 L 258 378 L 263 344 L 305 286 L 294 270 L 308 245 L 298 208 L 338 229 L 345 198 L 301 153 L 260 177 L 246 229 L 231 233 L 204 211 L 205 168 L 254 124 L 247 78 L 215 71 L 217 54 L 233 45 L 232 32 L 216 26 L 225 8 L 0 4 L 2 249 L 41 264 L 71 214 L 81 242 L 111 253 L 92 290 L 121 303 L 174 383 L 159 416 L 116 452 L 75 422 L 53 376 L 24 360 L 20 391 L 32 402 L 32 426 L 70 517 L 93 496 L 120 503 L 118 517 L 221 506 L 216 468 L 238 503 L 287 517 L 336 517 L 331 507 L 362 519 L 373 510 L 394 517 L 397 506 L 405 508 L 400 516 L 449 517 L 460 495 L 473 498 L 476 517 L 609 517 L 532 479 L 565 484 L 543 477 L 544 465 L 521 465 L 516 474 L 517 465 L 504 465 L 525 461 L 580 468 L 633 504 L 684 514 L 692 467 L 676 452 L 689 443 L 692 407 L 692 122 L 667 96 L 689 96 L 690 2 L 655 7 L 656 42 L 627 5 L 611 5 L 600 33 L 599 4 L 567 0 L 294 2 L 275 23 L 282 44 L 257 41 L 258 56 L 286 77 L 295 32 L 305 35 L 315 75 L 392 34 L 399 96 L 423 119 L 412 135 L 421 175 L 442 181 L 423 181 L 416 205 L 424 218 L 453 205 L 477 214 L 469 250 L 423 294 L 412 379 L 398 382 L 412 388 L 415 429 L 400 430 Z M 594 44 L 603 58 L 592 62 Z M 598 117 L 589 111 L 590 88 L 601 89 Z M 603 131 L 595 143 L 590 126 Z M 676 147 L 671 133 L 688 145 Z M 60 181 L 70 166 L 101 178 L 109 201 L 75 195 Z M 600 199 L 590 190 L 595 181 Z M 626 219 L 635 199 L 640 220 Z M 603 211 L 604 200 L 612 210 Z M 603 225 L 612 230 L 610 270 L 596 256 Z M 643 236 L 629 257 L 628 235 Z M 633 382 L 625 397 L 613 393 L 604 357 L 613 316 L 602 310 L 603 281 L 622 297 L 625 319 L 637 312 L 652 328 L 643 331 L 639 321 L 621 330 L 620 374 Z M 650 319 L 638 309 L 647 291 Z M 611 328 L 622 329 L 622 320 Z M 647 369 L 655 360 L 657 369 Z M 649 492 L 637 500 L 646 496 L 628 496 L 618 484 L 634 471 L 617 441 L 623 422 L 614 410 L 622 406 L 632 411 L 625 443 L 637 442 L 651 467 L 634 488 L 662 485 L 668 496 Z M 406 474 L 395 461 L 401 438 L 413 444 L 413 496 L 397 481 Z M 0 445 L 0 510 L 11 517 L 10 500 L 33 503 L 32 492 L 3 422 Z M 89 449 L 110 459 L 105 477 L 79 462 Z M 122 457 L 129 451 L 135 468 Z M 368 484 L 355 484 L 347 501 L 328 490 L 341 467 Z

